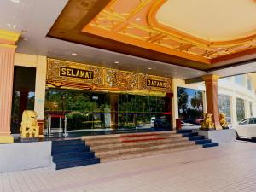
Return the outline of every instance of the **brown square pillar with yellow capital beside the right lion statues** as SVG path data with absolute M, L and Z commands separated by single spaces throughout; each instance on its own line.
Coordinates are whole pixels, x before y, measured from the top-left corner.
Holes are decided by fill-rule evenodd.
M 210 74 L 203 76 L 202 79 L 206 84 L 207 113 L 212 113 L 212 122 L 215 129 L 222 130 L 218 113 L 218 76 Z

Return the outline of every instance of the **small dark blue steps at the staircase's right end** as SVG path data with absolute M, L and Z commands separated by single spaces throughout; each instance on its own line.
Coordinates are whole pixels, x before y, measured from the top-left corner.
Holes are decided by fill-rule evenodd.
M 218 146 L 218 143 L 212 143 L 211 139 L 199 136 L 197 132 L 193 132 L 192 130 L 178 130 L 177 133 L 182 134 L 183 137 L 189 137 L 189 141 L 195 141 L 195 144 L 202 145 L 203 148 Z

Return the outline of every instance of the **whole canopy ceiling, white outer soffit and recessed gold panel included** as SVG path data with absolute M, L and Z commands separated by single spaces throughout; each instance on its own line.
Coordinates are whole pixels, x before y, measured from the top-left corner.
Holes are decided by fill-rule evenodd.
M 256 71 L 255 13 L 253 0 L 6 0 L 0 28 L 22 33 L 20 53 L 195 79 Z

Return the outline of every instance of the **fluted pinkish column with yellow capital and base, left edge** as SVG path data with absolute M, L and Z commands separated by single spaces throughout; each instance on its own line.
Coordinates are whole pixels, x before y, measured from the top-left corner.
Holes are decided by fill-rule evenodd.
M 10 132 L 14 59 L 20 33 L 0 29 L 0 143 L 13 143 Z

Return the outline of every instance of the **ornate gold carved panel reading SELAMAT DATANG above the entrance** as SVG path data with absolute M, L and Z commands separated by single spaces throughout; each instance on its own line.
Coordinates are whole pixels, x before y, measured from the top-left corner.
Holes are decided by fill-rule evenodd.
M 69 75 L 61 76 L 60 69 L 72 68 Z M 79 70 L 77 70 L 79 69 Z M 80 77 L 82 72 L 94 72 L 92 79 Z M 79 73 L 79 77 L 70 77 Z M 149 82 L 147 84 L 147 82 Z M 70 61 L 48 60 L 47 86 L 60 89 L 97 90 L 112 92 L 133 92 L 134 94 L 160 95 L 172 92 L 172 79 L 120 71 L 117 69 L 89 66 Z M 153 93 L 154 92 L 154 93 Z

